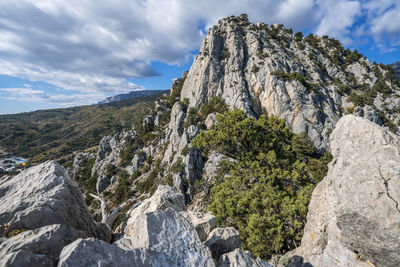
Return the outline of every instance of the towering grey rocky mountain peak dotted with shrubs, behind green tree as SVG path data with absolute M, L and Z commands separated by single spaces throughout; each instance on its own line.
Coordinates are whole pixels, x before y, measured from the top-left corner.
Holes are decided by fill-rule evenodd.
M 360 106 L 383 117 L 399 103 L 396 92 L 398 82 L 386 66 L 371 64 L 339 41 L 303 37 L 282 24 L 253 24 L 242 15 L 209 30 L 180 99 L 194 109 L 221 97 L 249 115 L 265 111 L 286 119 L 295 133 L 306 132 L 324 150 L 342 115 Z M 390 114 L 381 119 L 398 120 Z

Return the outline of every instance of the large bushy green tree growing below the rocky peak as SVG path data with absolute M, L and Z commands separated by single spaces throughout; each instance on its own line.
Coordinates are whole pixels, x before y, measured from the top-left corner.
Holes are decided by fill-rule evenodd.
M 234 110 L 217 119 L 192 145 L 235 159 L 223 161 L 211 188 L 209 209 L 218 224 L 238 229 L 244 248 L 264 259 L 295 248 L 330 155 L 317 154 L 306 134 L 293 134 L 276 117 L 255 119 Z

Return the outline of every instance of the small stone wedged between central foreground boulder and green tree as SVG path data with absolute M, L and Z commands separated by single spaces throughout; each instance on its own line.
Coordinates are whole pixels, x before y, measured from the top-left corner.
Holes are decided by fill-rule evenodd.
M 182 211 L 180 214 L 193 224 L 202 242 L 207 239 L 208 234 L 217 226 L 215 216 L 210 213 Z

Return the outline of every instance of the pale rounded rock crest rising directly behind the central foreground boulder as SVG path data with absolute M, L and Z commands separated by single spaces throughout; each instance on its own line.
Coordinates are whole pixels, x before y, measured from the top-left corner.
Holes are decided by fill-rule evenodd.
M 167 185 L 160 185 L 154 194 L 127 212 L 128 220 L 125 226 L 125 234 L 130 235 L 132 226 L 136 222 L 136 218 L 148 212 L 166 210 L 173 208 L 176 211 L 185 210 L 185 199 L 181 193 Z

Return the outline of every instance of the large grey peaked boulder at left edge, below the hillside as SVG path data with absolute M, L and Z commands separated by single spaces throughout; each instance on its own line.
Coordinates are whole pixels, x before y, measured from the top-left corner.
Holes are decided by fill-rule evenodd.
M 48 161 L 0 180 L 0 235 L 14 229 L 64 224 L 92 236 L 107 238 L 96 224 L 83 195 L 58 163 Z

